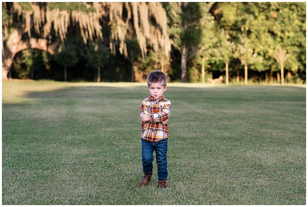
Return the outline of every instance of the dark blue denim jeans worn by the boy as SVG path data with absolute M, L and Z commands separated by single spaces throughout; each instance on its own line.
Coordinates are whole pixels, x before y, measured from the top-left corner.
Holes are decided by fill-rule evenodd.
M 157 175 L 158 180 L 168 180 L 167 171 L 167 144 L 168 139 L 158 142 L 150 142 L 141 138 L 142 143 L 142 166 L 145 174 L 152 173 L 153 170 L 153 152 L 156 153 Z

